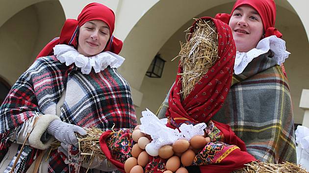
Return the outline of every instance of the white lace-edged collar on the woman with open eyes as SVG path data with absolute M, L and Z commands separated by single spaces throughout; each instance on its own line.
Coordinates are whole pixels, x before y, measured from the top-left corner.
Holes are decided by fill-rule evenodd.
M 234 73 L 242 73 L 246 66 L 254 58 L 258 57 L 261 54 L 267 53 L 269 49 L 275 53 L 273 58 L 276 60 L 278 65 L 281 65 L 290 54 L 290 52 L 286 51 L 284 40 L 277 38 L 274 35 L 266 37 L 258 42 L 256 48 L 253 48 L 248 52 L 236 52 Z

